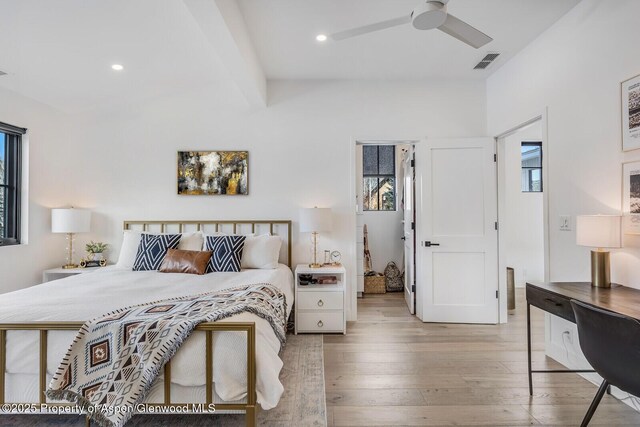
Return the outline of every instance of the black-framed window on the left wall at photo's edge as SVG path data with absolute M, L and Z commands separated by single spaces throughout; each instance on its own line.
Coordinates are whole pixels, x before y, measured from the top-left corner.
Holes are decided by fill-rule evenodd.
M 21 142 L 25 132 L 0 122 L 0 246 L 20 243 Z

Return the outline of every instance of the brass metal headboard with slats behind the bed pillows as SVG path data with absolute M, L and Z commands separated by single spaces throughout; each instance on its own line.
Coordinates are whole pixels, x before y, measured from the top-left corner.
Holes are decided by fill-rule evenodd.
M 202 221 L 125 221 L 125 230 L 141 230 L 159 233 L 188 233 L 190 231 L 228 232 L 231 234 L 266 233 L 279 236 L 285 241 L 280 250 L 280 262 L 291 268 L 291 221 L 290 220 L 202 220 Z

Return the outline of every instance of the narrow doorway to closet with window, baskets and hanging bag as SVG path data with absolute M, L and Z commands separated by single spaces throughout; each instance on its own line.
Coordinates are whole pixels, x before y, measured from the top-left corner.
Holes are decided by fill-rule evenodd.
M 415 313 L 415 246 L 413 144 L 406 140 L 356 140 L 355 198 L 357 296 L 367 292 L 404 292 Z M 402 276 L 393 289 L 376 282 L 393 263 Z M 392 268 L 392 267 L 391 267 Z

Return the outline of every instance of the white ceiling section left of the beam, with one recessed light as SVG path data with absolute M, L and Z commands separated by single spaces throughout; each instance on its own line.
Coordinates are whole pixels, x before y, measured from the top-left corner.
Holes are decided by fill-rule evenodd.
M 217 61 L 179 0 L 0 0 L 0 86 L 68 112 L 212 84 Z

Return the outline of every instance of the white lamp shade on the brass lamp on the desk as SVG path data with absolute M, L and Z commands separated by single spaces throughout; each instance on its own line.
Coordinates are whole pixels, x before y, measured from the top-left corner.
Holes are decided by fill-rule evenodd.
M 578 215 L 576 243 L 592 248 L 619 248 L 620 229 L 618 215 Z

